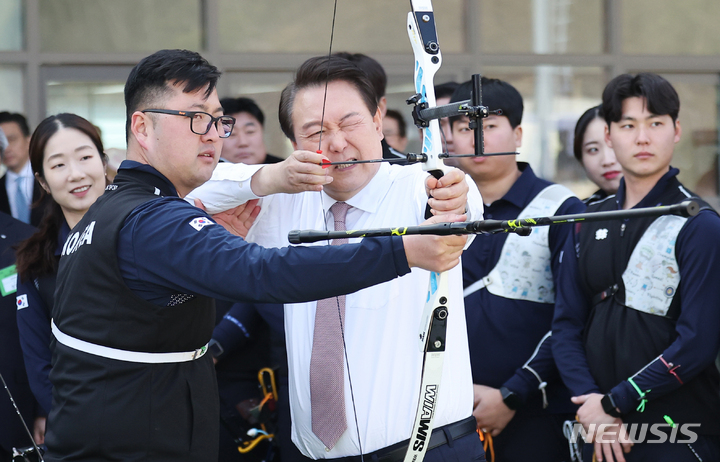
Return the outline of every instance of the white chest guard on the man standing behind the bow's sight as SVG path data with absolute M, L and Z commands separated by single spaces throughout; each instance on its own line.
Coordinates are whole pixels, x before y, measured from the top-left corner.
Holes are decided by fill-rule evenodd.
M 550 185 L 535 196 L 520 212 L 518 219 L 554 215 L 563 202 L 573 196 L 572 191 L 565 186 Z M 467 297 L 485 287 L 498 297 L 555 303 L 548 237 L 548 226 L 532 228 L 529 236 L 510 233 L 495 268 L 490 274 L 465 288 L 463 296 Z

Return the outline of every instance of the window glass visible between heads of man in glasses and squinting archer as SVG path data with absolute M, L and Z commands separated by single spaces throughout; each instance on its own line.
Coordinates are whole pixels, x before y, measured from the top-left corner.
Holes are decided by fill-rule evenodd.
M 245 96 L 260 106 L 265 114 L 265 147 L 268 153 L 278 157 L 287 157 L 293 152 L 278 122 L 280 92 L 292 77 L 292 72 L 226 72 L 222 76 L 222 85 L 228 92 L 220 98 Z

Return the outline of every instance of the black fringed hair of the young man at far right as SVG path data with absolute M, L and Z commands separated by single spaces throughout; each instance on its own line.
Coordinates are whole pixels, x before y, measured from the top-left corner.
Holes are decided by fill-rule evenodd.
M 610 127 L 611 122 L 622 118 L 622 103 L 628 98 L 645 98 L 652 114 L 669 115 L 673 124 L 680 113 L 680 97 L 675 88 L 657 74 L 641 72 L 637 75 L 623 74 L 615 77 L 603 90 L 601 115 Z

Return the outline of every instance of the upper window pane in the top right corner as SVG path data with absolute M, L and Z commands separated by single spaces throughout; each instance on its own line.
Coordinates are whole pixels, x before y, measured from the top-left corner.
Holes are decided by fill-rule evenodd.
M 720 54 L 717 0 L 623 1 L 622 15 L 625 53 Z

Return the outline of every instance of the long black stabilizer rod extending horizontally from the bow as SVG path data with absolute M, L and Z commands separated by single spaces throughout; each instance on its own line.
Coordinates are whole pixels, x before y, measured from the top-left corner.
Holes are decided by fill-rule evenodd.
M 566 223 L 582 223 L 593 221 L 626 220 L 642 217 L 659 217 L 662 215 L 678 215 L 692 217 L 698 214 L 700 206 L 695 201 L 684 201 L 675 205 L 645 207 L 630 210 L 612 210 L 609 212 L 577 213 L 550 217 L 525 218 L 517 220 L 481 220 L 457 223 L 436 223 L 424 226 L 407 226 L 398 228 L 376 228 L 348 231 L 315 231 L 294 230 L 288 233 L 291 244 L 318 242 L 339 238 L 408 236 L 415 234 L 432 234 L 436 236 L 462 234 L 494 234 L 502 232 L 530 234 L 531 228 L 537 226 L 553 226 Z

